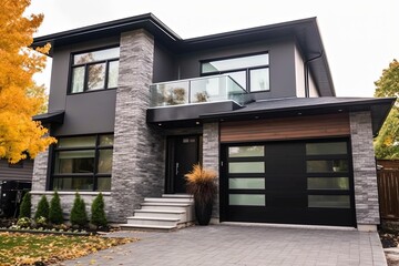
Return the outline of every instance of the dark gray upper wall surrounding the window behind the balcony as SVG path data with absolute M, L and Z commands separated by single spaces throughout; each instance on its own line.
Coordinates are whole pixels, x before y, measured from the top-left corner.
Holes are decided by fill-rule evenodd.
M 176 68 L 180 79 L 200 76 L 200 61 L 236 57 L 258 52 L 269 53 L 270 91 L 253 93 L 255 99 L 296 96 L 295 41 L 293 39 L 274 42 L 256 42 L 245 45 L 226 47 L 197 53 L 180 55 Z

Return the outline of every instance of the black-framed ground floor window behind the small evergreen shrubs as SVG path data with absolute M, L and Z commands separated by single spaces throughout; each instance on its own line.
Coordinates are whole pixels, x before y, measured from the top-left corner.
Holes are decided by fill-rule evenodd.
M 110 191 L 113 135 L 60 137 L 54 150 L 52 188 Z

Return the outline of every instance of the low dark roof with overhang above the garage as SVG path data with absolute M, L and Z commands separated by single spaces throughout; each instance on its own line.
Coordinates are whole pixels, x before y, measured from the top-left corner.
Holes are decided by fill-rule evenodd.
M 378 135 L 395 98 L 291 98 L 258 101 L 233 112 L 207 113 L 203 121 L 243 121 L 282 116 L 369 111 L 374 136 Z

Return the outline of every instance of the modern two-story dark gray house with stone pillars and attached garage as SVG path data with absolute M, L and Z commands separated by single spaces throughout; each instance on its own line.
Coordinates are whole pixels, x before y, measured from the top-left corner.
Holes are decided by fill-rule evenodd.
M 393 99 L 336 98 L 315 18 L 183 40 L 143 14 L 33 47 L 47 42 L 35 119 L 59 142 L 35 158 L 33 203 L 101 191 L 125 222 L 144 197 L 185 193 L 202 162 L 219 173 L 215 221 L 379 224 L 372 136 Z

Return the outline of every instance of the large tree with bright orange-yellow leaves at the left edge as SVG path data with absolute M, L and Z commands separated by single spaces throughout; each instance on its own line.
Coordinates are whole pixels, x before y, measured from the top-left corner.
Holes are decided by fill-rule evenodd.
M 50 44 L 33 51 L 29 45 L 43 14 L 24 17 L 30 0 L 0 2 L 0 158 L 17 163 L 55 142 L 48 130 L 32 121 L 44 104 L 43 88 L 32 76 L 45 65 Z

